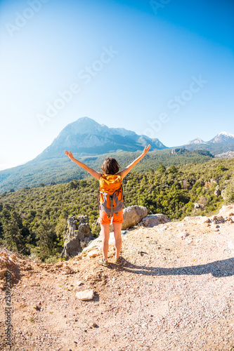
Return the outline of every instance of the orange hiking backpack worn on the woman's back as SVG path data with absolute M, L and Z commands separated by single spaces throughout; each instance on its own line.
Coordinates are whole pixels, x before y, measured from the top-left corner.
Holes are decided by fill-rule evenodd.
M 122 178 L 117 174 L 102 174 L 99 180 L 98 210 L 113 216 L 118 215 L 124 206 Z

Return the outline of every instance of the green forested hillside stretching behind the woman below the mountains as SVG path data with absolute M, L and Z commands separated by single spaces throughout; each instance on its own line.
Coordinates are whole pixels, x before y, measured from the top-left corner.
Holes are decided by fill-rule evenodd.
M 148 213 L 181 220 L 210 215 L 220 208 L 224 187 L 226 202 L 234 201 L 234 159 L 169 167 L 160 164 L 156 171 L 149 160 L 145 157 L 144 171 L 124 178 L 125 206 L 138 204 L 147 207 Z M 31 258 L 57 260 L 67 218 L 89 215 L 91 228 L 98 218 L 97 192 L 98 181 L 93 178 L 4 192 L 0 195 L 0 244 Z M 97 234 L 95 229 L 93 234 Z

